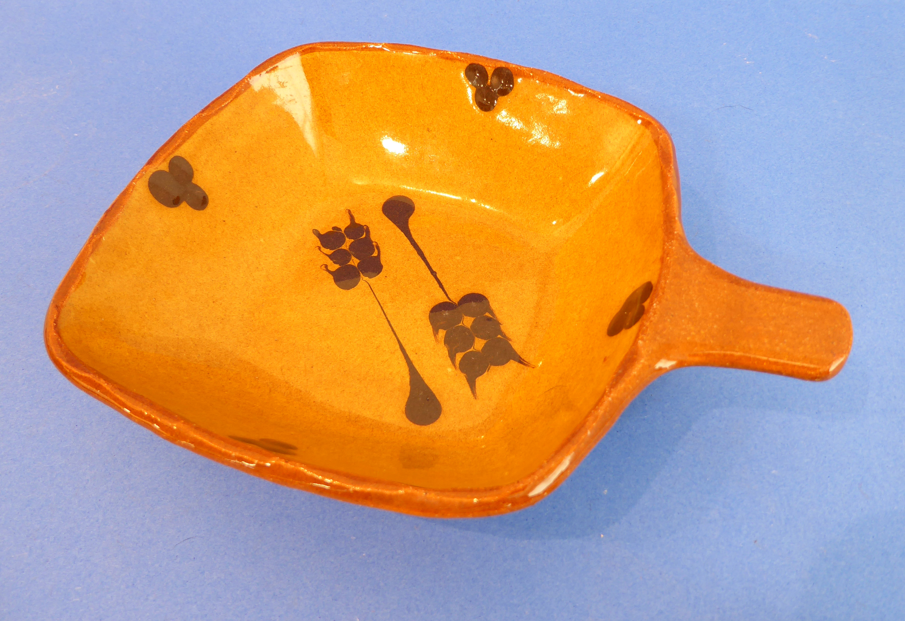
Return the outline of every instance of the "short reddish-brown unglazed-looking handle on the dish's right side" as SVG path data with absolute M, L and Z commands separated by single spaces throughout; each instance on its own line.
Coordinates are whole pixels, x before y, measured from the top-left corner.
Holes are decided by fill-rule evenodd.
M 654 368 L 744 368 L 812 380 L 842 369 L 852 349 L 842 304 L 742 280 L 681 246 L 652 313 L 659 319 L 652 321 Z

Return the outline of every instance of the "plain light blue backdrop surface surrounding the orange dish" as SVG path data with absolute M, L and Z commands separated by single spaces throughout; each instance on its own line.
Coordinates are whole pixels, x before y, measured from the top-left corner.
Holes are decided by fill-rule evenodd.
M 848 364 L 670 373 L 548 500 L 473 521 L 263 482 L 72 387 L 43 317 L 100 215 L 210 100 L 325 40 L 484 54 L 647 110 L 691 244 L 841 301 Z M 5 0 L 0 617 L 905 618 L 903 49 L 901 2 Z

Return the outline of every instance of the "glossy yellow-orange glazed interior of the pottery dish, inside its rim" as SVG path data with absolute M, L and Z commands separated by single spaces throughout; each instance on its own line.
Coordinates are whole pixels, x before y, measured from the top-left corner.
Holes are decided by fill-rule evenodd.
M 648 118 L 518 67 L 481 110 L 468 64 L 376 48 L 294 53 L 252 77 L 121 197 L 62 308 L 63 342 L 157 406 L 286 460 L 439 489 L 536 470 L 633 342 L 637 323 L 607 330 L 656 286 L 662 166 Z M 204 209 L 152 195 L 174 156 Z M 437 279 L 384 213 L 393 196 L 414 205 L 411 236 Z M 343 289 L 312 229 L 345 228 L 347 209 L 382 271 Z M 495 318 L 528 364 L 490 366 L 473 396 L 457 368 L 469 354 L 453 367 L 444 346 L 453 328 L 434 339 L 441 283 L 453 308 L 469 293 L 489 302 L 472 297 L 481 317 L 462 315 L 455 334 L 492 335 Z M 436 406 L 413 369 L 440 406 L 429 424 Z M 427 398 L 420 424 L 406 415 L 413 390 Z

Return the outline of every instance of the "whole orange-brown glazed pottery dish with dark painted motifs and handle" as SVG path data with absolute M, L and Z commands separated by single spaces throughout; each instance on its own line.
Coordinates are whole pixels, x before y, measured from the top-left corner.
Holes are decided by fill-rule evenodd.
M 833 377 L 838 303 L 681 228 L 672 140 L 547 72 L 315 43 L 189 120 L 53 297 L 90 395 L 245 473 L 425 516 L 544 498 L 654 378 Z

